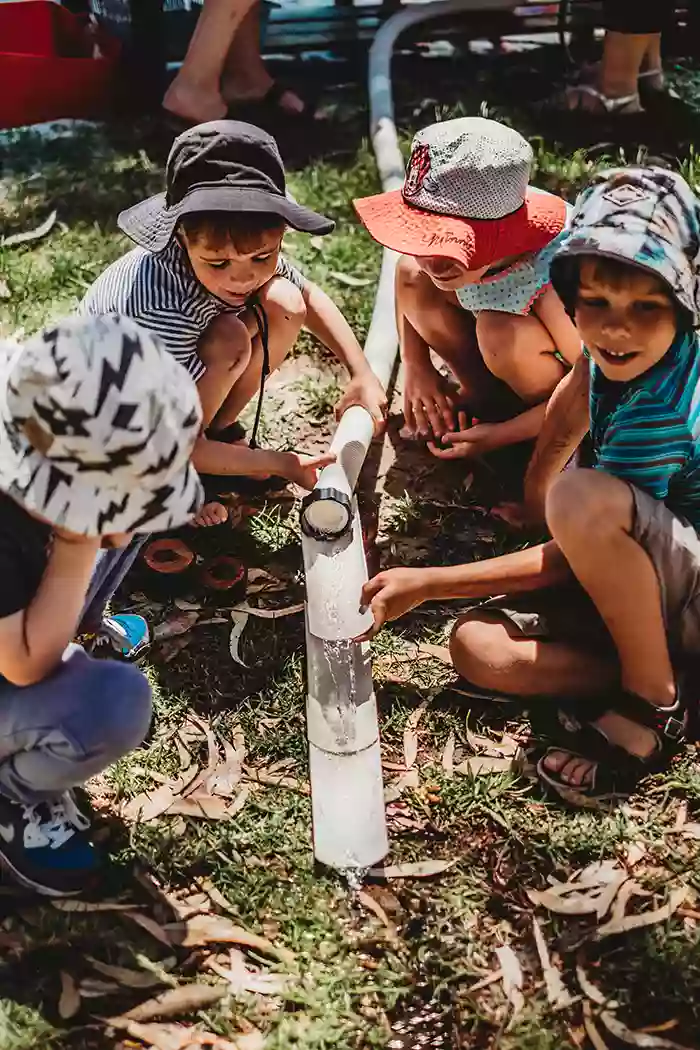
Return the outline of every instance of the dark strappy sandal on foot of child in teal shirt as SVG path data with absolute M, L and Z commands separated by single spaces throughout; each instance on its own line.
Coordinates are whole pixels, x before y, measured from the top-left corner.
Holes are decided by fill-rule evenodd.
M 628 798 L 643 777 L 665 769 L 686 739 L 687 709 L 680 697 L 670 707 L 659 708 L 634 693 L 622 692 L 614 705 L 606 707 L 652 730 L 656 747 L 651 755 L 642 758 L 612 743 L 596 726 L 580 724 L 577 719 L 567 723 L 559 718 L 569 740 L 566 747 L 548 748 L 537 762 L 537 777 L 546 789 L 579 808 L 608 808 Z M 546 759 L 561 751 L 568 753 L 569 760 L 595 763 L 589 780 L 580 784 L 569 783 L 559 773 L 546 766 Z

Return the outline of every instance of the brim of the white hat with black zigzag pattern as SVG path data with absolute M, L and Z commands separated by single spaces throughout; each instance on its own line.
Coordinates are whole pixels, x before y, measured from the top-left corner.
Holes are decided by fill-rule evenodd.
M 157 491 L 92 484 L 57 469 L 22 438 L 10 442 L 0 420 L 0 491 L 43 521 L 78 536 L 162 532 L 186 525 L 204 503 L 204 489 L 188 463 Z

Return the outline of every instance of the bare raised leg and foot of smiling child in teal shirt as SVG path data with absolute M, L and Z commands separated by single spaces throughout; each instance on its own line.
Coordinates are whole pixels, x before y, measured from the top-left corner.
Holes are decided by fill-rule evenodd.
M 571 569 L 589 593 L 613 638 L 624 690 L 649 704 L 667 707 L 676 681 L 663 618 L 658 575 L 635 539 L 634 497 L 629 485 L 595 470 L 563 474 L 547 498 L 547 523 Z M 654 734 L 615 712 L 595 724 L 612 743 L 645 757 Z M 556 752 L 547 768 L 571 783 L 590 779 L 593 762 Z

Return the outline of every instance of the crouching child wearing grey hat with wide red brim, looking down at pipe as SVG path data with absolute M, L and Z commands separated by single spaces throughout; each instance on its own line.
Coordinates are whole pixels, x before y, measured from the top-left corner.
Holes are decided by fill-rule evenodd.
M 416 135 L 402 191 L 355 202 L 375 240 L 403 253 L 404 415 L 413 435 L 448 442 L 429 442 L 441 458 L 535 437 L 547 399 L 580 353 L 549 278 L 567 205 L 528 185 L 531 166 L 529 143 L 511 128 L 445 121 Z M 502 422 L 464 428 L 431 350 L 458 380 L 468 415 Z

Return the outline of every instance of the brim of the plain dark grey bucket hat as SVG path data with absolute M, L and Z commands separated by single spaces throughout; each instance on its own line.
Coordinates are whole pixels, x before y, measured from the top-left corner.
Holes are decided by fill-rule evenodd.
M 279 215 L 288 226 L 301 233 L 331 233 L 335 223 L 304 208 L 290 197 L 264 190 L 242 189 L 238 186 L 199 186 L 168 208 L 165 193 L 142 201 L 123 211 L 118 225 L 132 240 L 151 252 L 163 251 L 170 244 L 183 215 L 199 211 L 249 212 Z

